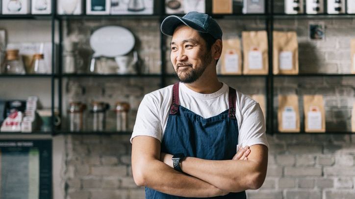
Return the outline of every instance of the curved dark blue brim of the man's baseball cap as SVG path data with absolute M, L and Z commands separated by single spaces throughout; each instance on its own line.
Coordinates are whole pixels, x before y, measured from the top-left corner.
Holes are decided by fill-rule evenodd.
M 191 22 L 190 20 L 186 20 L 175 15 L 165 18 L 164 21 L 161 23 L 160 30 L 164 35 L 173 36 L 176 27 L 181 23 L 199 32 L 206 33 L 203 27 L 197 25 L 195 22 Z

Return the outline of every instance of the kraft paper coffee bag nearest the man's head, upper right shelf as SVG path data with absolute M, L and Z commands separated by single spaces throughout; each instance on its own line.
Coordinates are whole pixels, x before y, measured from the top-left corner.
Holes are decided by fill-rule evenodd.
M 221 74 L 242 74 L 242 52 L 238 38 L 223 40 Z

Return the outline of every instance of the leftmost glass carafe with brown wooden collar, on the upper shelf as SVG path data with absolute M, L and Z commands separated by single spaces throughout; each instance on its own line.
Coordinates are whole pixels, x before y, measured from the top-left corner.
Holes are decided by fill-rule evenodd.
M 25 74 L 24 63 L 19 56 L 19 50 L 7 50 L 6 58 L 3 64 L 3 71 L 5 74 Z

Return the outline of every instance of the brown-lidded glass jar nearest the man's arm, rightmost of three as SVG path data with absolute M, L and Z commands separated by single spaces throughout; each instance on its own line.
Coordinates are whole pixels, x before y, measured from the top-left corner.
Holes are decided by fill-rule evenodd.
M 116 103 L 116 124 L 118 132 L 126 132 L 128 129 L 129 108 L 129 104 L 127 102 Z

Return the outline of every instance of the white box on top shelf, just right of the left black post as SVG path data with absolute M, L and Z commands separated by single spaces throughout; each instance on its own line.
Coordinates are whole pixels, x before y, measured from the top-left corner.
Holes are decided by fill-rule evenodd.
M 82 0 L 57 0 L 58 15 L 81 15 L 82 10 Z

